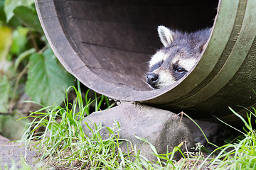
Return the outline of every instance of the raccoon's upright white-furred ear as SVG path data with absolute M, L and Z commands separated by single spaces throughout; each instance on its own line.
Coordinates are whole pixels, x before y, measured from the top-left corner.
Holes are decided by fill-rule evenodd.
M 169 28 L 166 28 L 165 26 L 159 26 L 157 31 L 164 47 L 167 47 L 174 40 L 174 31 L 170 30 Z

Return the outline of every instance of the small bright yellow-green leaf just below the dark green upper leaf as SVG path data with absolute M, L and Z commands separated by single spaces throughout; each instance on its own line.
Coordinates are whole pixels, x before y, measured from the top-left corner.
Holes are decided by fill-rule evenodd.
M 19 55 L 26 47 L 28 28 L 18 27 L 13 33 L 13 44 L 11 46 L 11 52 L 15 55 Z

